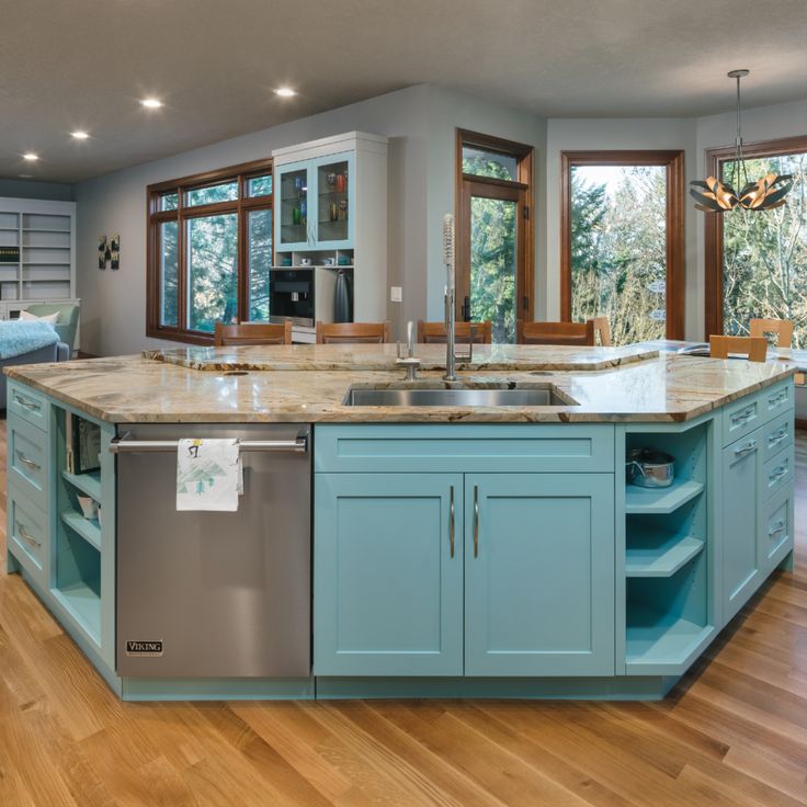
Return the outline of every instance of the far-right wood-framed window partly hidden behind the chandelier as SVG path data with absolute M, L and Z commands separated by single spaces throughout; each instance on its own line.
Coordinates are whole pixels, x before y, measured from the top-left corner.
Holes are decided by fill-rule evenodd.
M 755 317 L 791 319 L 793 346 L 807 348 L 807 137 L 743 146 L 746 172 L 794 175 L 787 203 L 773 211 L 704 214 L 706 336 L 748 336 Z M 706 152 L 709 173 L 735 187 L 735 148 Z M 789 346 L 789 345 L 788 345 Z

